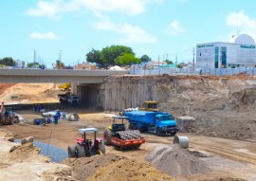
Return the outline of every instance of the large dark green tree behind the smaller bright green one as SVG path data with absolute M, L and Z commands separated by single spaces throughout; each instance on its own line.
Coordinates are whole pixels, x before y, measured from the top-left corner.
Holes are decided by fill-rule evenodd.
M 127 47 L 124 45 L 111 45 L 109 47 L 104 47 L 101 50 L 101 65 L 105 67 L 108 65 L 115 65 L 115 60 L 125 53 L 135 55 L 131 47 Z

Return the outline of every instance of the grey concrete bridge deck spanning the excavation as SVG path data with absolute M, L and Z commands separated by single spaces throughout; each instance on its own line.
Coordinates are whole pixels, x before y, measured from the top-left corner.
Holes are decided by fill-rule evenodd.
M 102 83 L 104 78 L 125 75 L 128 71 L 114 70 L 79 70 L 79 69 L 35 69 L 35 68 L 1 68 L 0 82 L 72 82 Z

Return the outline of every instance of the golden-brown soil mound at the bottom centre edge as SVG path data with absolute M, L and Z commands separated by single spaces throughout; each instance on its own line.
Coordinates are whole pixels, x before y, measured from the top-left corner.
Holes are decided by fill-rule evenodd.
M 147 163 L 117 154 L 67 159 L 64 163 L 74 168 L 78 180 L 174 180 Z

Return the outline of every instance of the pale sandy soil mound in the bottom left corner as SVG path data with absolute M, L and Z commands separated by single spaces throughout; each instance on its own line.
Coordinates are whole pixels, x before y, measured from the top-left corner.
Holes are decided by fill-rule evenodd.
M 39 154 L 32 141 L 10 142 L 11 136 L 0 129 L 0 180 L 76 180 L 70 167 L 49 162 L 50 158 Z

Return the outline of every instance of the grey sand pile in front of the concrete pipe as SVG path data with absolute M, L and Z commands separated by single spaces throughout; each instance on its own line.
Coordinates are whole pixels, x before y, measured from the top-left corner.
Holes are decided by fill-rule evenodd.
M 193 154 L 187 149 L 179 148 L 178 144 L 174 144 L 171 147 L 167 145 L 156 147 L 145 159 L 156 169 L 173 176 L 210 172 L 207 164 L 197 156 L 204 155 Z

